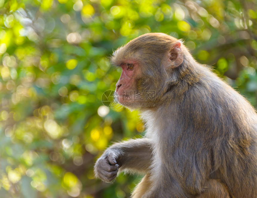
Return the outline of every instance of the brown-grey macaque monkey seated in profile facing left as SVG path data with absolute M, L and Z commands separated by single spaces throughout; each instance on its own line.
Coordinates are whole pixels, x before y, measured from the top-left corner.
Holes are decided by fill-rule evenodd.
M 163 33 L 131 40 L 111 62 L 122 68 L 117 101 L 139 109 L 146 134 L 106 149 L 96 177 L 145 174 L 133 198 L 257 197 L 257 114 L 244 97 Z

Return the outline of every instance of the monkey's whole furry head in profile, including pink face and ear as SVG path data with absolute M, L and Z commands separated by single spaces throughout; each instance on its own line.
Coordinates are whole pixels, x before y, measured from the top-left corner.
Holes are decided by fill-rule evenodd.
M 154 106 L 174 81 L 186 48 L 163 33 L 141 35 L 118 48 L 111 57 L 122 73 L 116 84 L 116 100 L 129 109 Z

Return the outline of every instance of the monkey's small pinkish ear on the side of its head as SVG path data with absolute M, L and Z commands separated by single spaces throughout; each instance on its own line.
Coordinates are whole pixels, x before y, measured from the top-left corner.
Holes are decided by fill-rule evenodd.
M 169 60 L 172 62 L 171 67 L 178 67 L 183 62 L 183 52 L 181 49 L 181 42 L 178 41 L 175 45 L 172 46 L 172 49 L 169 51 Z

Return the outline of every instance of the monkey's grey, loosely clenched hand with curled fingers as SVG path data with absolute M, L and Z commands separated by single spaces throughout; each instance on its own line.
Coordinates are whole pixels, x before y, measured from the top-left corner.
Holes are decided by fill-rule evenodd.
M 118 168 L 117 164 L 119 152 L 107 149 L 104 154 L 96 161 L 94 166 L 95 177 L 100 178 L 104 182 L 111 182 L 117 177 Z

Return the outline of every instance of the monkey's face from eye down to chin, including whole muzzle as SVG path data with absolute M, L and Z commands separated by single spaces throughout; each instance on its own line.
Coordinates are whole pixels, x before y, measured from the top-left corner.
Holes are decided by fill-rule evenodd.
M 121 105 L 135 109 L 143 102 L 143 95 L 137 90 L 137 79 L 140 68 L 135 61 L 127 61 L 120 65 L 122 72 L 116 83 L 115 98 Z

